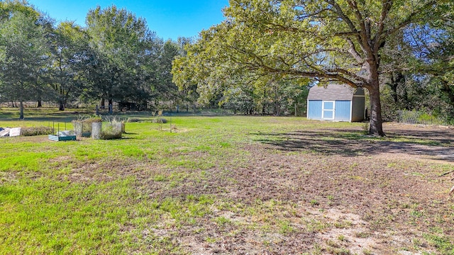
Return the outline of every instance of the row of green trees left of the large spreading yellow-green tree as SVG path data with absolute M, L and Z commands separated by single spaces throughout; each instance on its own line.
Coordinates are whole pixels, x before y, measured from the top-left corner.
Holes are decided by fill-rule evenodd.
M 172 60 L 183 45 L 163 41 L 143 18 L 97 6 L 86 26 L 55 23 L 26 1 L 0 1 L 0 101 L 100 102 L 143 110 L 194 101 L 172 83 Z

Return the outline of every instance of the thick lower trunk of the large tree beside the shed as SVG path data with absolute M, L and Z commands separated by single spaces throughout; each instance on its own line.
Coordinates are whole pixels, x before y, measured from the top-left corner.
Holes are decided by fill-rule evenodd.
M 372 84 L 369 90 L 370 95 L 370 135 L 384 136 L 382 127 L 382 104 L 380 103 L 380 87 L 378 82 Z

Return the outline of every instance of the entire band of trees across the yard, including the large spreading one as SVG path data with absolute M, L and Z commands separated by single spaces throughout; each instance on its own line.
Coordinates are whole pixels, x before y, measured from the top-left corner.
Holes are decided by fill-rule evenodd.
M 336 82 L 368 91 L 373 135 L 403 109 L 454 123 L 453 5 L 231 0 L 225 20 L 199 38 L 164 42 L 116 6 L 90 10 L 82 28 L 0 1 L 0 101 L 140 110 L 197 100 L 281 115 L 304 109 L 310 86 Z

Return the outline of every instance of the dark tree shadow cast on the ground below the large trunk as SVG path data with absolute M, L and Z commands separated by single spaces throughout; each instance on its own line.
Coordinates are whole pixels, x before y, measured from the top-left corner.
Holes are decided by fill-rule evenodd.
M 387 137 L 363 135 L 358 130 L 305 130 L 250 133 L 255 141 L 284 152 L 312 152 L 354 157 L 381 153 L 428 156 L 454 162 L 454 132 L 387 130 Z

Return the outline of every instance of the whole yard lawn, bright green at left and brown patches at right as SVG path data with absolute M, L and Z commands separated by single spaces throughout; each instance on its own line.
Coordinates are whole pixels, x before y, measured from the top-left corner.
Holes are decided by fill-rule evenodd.
M 134 117 L 121 140 L 0 139 L 0 254 L 454 254 L 454 130 Z

